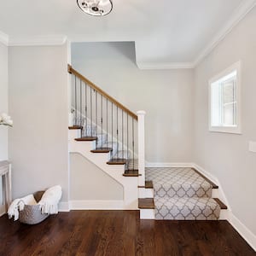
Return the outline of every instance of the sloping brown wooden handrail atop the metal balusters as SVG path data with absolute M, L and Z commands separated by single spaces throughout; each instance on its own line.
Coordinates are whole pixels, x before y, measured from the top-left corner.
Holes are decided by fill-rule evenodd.
M 93 90 L 96 90 L 98 93 L 100 93 L 102 96 L 106 97 L 110 102 L 113 102 L 117 107 L 121 108 L 122 110 L 124 110 L 126 113 L 128 113 L 129 115 L 131 115 L 131 117 L 133 119 L 137 120 L 137 114 L 136 113 L 132 113 L 131 110 L 129 110 L 128 108 L 125 108 L 124 105 L 122 105 L 120 102 L 116 101 L 112 96 L 109 96 L 108 93 L 106 93 L 104 90 L 102 90 L 101 88 L 99 88 L 98 86 L 96 86 L 96 84 L 93 84 L 92 82 L 90 82 L 89 79 L 84 78 L 84 76 L 82 74 L 80 74 L 79 72 L 77 72 L 75 69 L 73 69 L 73 67 L 69 64 L 67 64 L 67 72 L 68 73 L 73 73 L 73 75 L 75 75 L 76 77 L 78 77 L 79 79 L 83 80 L 84 83 L 86 84 L 90 84 L 90 87 Z

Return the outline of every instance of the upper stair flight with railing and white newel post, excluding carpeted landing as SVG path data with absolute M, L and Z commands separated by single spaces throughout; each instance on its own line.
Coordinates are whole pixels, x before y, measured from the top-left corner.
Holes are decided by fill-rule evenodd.
M 82 154 L 124 188 L 119 209 L 137 209 L 145 182 L 144 115 L 132 113 L 73 67 L 69 152 Z

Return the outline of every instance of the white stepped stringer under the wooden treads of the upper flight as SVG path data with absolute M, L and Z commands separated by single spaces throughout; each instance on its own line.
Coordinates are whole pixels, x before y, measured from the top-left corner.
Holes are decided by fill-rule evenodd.
M 124 177 L 124 165 L 108 165 L 109 153 L 91 153 L 90 150 L 96 148 L 96 141 L 77 142 L 75 138 L 79 137 L 79 130 L 69 130 L 69 152 L 79 153 L 87 160 L 90 160 L 98 166 L 108 176 L 113 177 L 124 188 L 123 206 L 120 209 L 137 210 L 138 201 L 138 177 Z

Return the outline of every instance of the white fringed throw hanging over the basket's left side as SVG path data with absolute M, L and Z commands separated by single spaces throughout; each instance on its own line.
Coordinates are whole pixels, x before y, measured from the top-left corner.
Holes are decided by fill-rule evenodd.
M 24 210 L 25 205 L 36 205 L 37 201 L 33 195 L 26 195 L 22 198 L 17 198 L 11 203 L 8 209 L 9 218 L 15 216 L 15 220 L 19 219 L 19 211 Z

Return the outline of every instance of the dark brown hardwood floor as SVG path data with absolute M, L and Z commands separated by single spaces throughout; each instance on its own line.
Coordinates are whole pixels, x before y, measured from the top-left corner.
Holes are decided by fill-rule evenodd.
M 0 255 L 256 255 L 227 221 L 140 220 L 138 211 L 72 211 L 37 225 L 0 218 Z

